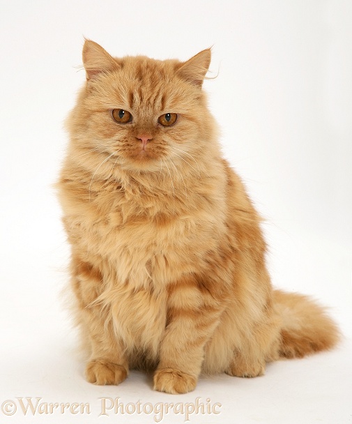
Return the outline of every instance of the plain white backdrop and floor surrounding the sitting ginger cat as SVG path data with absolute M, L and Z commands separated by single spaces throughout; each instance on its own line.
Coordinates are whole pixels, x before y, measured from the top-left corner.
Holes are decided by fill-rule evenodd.
M 351 1 L 1 0 L 0 20 L 0 403 L 18 409 L 0 411 L 0 422 L 155 422 L 98 419 L 104 396 L 222 404 L 191 423 L 351 422 Z M 345 336 L 339 348 L 271 364 L 257 379 L 202 378 L 181 396 L 153 392 L 141 372 L 118 387 L 84 381 L 61 296 L 69 250 L 52 188 L 63 121 L 85 79 L 84 36 L 114 56 L 186 60 L 213 46 L 218 76 L 204 87 L 224 156 L 266 218 L 273 283 L 329 305 Z M 23 416 L 16 397 L 89 402 L 91 414 Z

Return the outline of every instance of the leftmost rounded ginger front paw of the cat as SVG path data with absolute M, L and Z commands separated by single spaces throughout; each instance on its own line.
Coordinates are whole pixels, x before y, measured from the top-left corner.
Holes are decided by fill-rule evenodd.
M 86 379 L 89 383 L 104 386 L 105 384 L 120 384 L 127 377 L 127 370 L 122 365 L 116 365 L 104 359 L 95 359 L 86 366 Z

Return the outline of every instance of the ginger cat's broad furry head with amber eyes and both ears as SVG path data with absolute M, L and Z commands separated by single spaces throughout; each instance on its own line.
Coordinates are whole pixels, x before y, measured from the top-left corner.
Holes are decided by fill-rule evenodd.
M 124 169 L 155 172 L 188 163 L 192 170 L 191 157 L 211 149 L 213 139 L 201 89 L 210 61 L 210 50 L 186 62 L 118 59 L 86 40 L 86 86 L 69 123 L 73 139 Z

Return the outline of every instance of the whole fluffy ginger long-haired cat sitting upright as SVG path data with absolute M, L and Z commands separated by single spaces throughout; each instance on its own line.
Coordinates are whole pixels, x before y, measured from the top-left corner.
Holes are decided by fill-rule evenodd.
M 201 373 L 256 377 L 334 347 L 325 310 L 270 283 L 261 218 L 202 89 L 211 50 L 118 59 L 85 40 L 82 56 L 58 191 L 86 379 L 151 369 L 155 390 L 187 393 Z

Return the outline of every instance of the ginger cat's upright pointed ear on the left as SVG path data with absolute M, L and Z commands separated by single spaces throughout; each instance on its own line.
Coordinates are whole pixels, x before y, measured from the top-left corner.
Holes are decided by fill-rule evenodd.
M 86 79 L 94 79 L 97 75 L 118 69 L 118 61 L 104 50 L 98 43 L 91 40 L 85 40 L 82 59 L 84 69 L 86 70 Z

